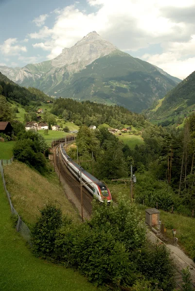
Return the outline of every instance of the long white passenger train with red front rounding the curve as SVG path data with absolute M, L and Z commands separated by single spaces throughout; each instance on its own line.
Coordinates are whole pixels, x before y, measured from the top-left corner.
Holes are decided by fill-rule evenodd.
M 80 175 L 82 171 L 82 182 L 83 186 L 100 202 L 106 200 L 108 203 L 111 202 L 112 197 L 109 189 L 106 187 L 105 183 L 99 181 L 97 178 L 93 177 L 90 173 L 85 171 L 81 166 L 79 166 L 76 162 L 73 162 L 69 157 L 67 152 L 64 149 L 63 144 L 60 144 L 60 152 L 62 155 L 62 159 L 66 164 L 69 171 L 80 181 Z

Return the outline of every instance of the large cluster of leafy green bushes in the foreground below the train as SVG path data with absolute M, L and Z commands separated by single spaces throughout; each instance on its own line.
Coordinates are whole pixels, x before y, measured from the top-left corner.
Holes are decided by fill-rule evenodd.
M 77 269 L 96 285 L 140 290 L 173 290 L 173 266 L 164 245 L 145 244 L 145 227 L 136 205 L 93 202 L 90 221 L 72 225 L 52 204 L 40 211 L 32 231 L 36 255 Z M 158 287 L 158 288 L 157 288 Z

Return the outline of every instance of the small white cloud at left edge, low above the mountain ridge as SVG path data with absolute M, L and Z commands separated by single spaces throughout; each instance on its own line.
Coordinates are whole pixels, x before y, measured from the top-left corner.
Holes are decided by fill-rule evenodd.
M 21 52 L 26 52 L 27 49 L 24 46 L 17 45 L 17 38 L 8 38 L 0 45 L 0 51 L 3 55 L 19 55 Z

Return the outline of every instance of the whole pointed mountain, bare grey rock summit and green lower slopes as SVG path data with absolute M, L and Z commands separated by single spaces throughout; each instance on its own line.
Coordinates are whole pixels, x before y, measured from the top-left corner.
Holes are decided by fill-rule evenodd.
M 179 82 L 160 68 L 120 51 L 96 32 L 63 49 L 51 61 L 26 65 L 19 72 L 17 68 L 15 75 L 5 67 L 0 71 L 18 84 L 48 95 L 119 104 L 136 112 L 164 97 Z

